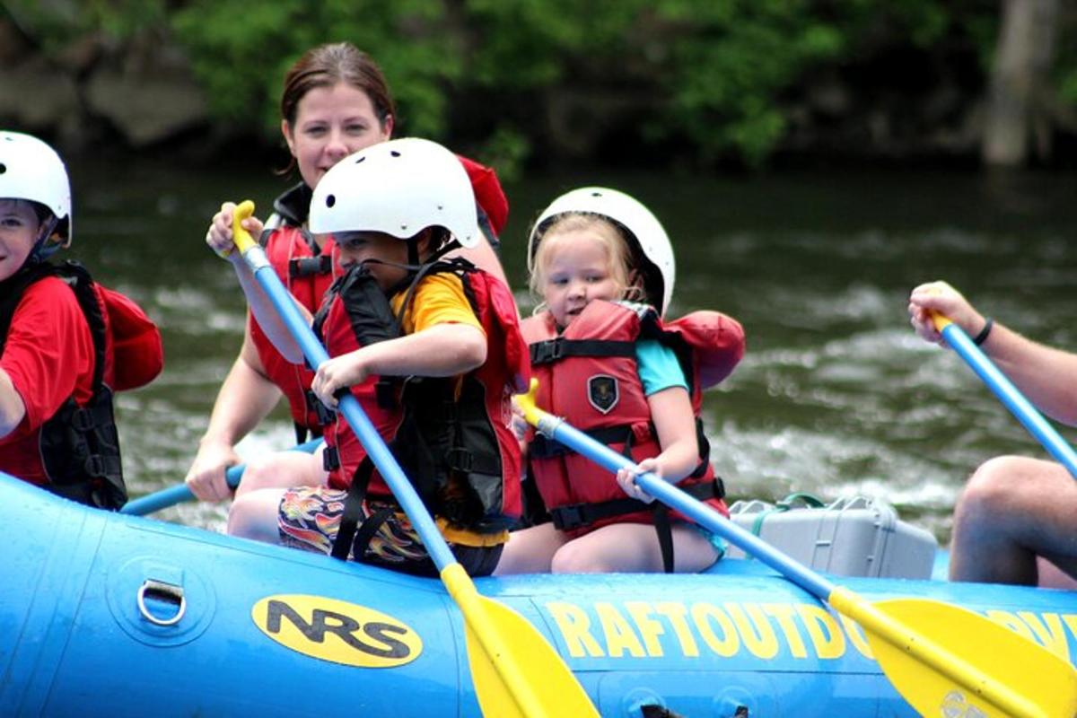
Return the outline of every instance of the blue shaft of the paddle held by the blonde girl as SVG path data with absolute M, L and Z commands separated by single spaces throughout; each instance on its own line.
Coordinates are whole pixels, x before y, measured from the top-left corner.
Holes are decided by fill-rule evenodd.
M 604 444 L 596 441 L 579 430 L 570 426 L 551 414 L 543 416 L 538 420 L 537 427 L 540 432 L 549 438 L 563 444 L 611 471 L 635 466 L 627 456 L 617 453 Z M 722 516 L 722 513 L 703 502 L 689 496 L 684 491 L 651 473 L 639 475 L 635 477 L 635 482 L 641 489 L 655 496 L 658 501 L 667 506 L 672 506 L 695 520 L 699 525 L 705 526 L 718 534 L 730 544 L 736 544 L 774 571 L 792 579 L 793 582 L 812 595 L 823 601 L 829 599 L 830 593 L 835 589 L 834 583 L 808 567 L 793 561 L 757 536 L 741 529 L 737 523 Z

